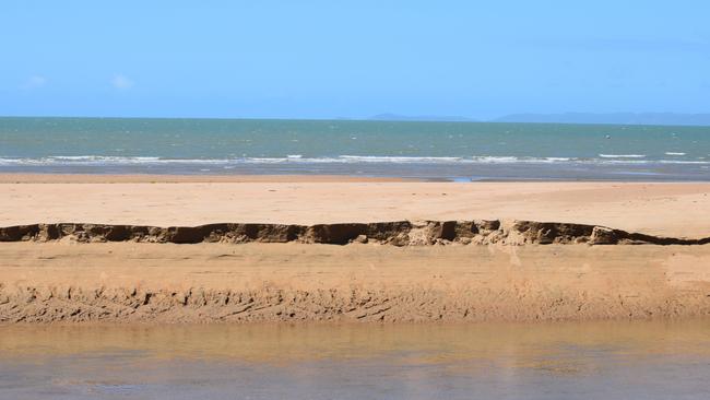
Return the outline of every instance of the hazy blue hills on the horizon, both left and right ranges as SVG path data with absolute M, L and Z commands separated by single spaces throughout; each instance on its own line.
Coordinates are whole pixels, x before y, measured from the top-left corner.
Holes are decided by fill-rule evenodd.
M 379 114 L 370 117 L 378 121 L 450 121 L 476 122 L 476 120 L 460 116 L 403 116 L 397 114 Z M 613 123 L 613 125 L 675 125 L 675 126 L 710 126 L 710 114 L 675 114 L 675 113 L 564 113 L 564 114 L 510 114 L 487 122 L 539 122 L 539 123 Z

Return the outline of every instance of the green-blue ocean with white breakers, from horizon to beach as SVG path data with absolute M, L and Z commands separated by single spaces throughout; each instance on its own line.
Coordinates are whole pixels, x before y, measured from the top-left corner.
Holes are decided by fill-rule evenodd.
M 4 117 L 0 173 L 710 180 L 710 127 Z

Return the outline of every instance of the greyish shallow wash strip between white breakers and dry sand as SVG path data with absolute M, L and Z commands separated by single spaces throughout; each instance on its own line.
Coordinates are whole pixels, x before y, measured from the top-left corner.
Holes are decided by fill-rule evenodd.
M 593 164 L 593 163 L 506 163 L 506 164 L 165 164 L 100 165 L 0 165 L 1 174 L 90 174 L 90 175 L 188 175 L 188 176 L 342 176 L 404 178 L 426 181 L 708 181 L 705 164 Z

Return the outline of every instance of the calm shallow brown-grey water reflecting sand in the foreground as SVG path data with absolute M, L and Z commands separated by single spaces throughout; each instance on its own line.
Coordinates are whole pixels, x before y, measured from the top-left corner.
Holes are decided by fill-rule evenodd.
M 7 399 L 707 399 L 710 320 L 0 327 Z

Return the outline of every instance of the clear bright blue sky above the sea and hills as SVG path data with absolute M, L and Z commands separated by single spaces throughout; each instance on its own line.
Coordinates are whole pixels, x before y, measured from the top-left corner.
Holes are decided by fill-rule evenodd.
M 710 113 L 709 1 L 0 5 L 0 115 Z

